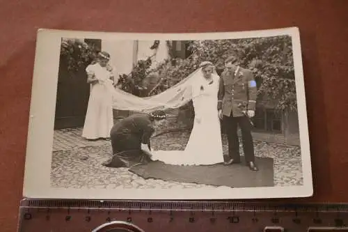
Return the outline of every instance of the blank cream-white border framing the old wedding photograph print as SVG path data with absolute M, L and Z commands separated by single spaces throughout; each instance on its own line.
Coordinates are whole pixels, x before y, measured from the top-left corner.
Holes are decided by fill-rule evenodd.
M 222 40 L 291 36 L 299 117 L 303 185 L 290 187 L 212 187 L 204 189 L 74 189 L 51 187 L 50 174 L 54 119 L 58 82 L 58 65 L 62 38 L 102 40 Z M 65 31 L 39 29 L 26 147 L 23 195 L 38 199 L 269 199 L 313 196 L 313 176 L 310 162 L 310 142 L 303 82 L 299 28 L 214 33 L 113 33 L 95 31 Z

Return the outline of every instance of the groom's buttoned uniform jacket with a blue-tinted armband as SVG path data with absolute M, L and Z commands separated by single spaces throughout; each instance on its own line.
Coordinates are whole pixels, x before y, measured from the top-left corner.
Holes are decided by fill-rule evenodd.
M 235 72 L 221 73 L 218 109 L 225 116 L 244 116 L 243 111 L 254 110 L 257 86 L 251 70 L 238 67 Z

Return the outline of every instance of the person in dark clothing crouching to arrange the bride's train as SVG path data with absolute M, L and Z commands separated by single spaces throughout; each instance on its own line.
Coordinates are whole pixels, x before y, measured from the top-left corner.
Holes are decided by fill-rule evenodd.
M 166 113 L 158 110 L 133 114 L 113 125 L 110 132 L 113 157 L 104 166 L 132 167 L 152 161 L 150 137 L 165 118 Z

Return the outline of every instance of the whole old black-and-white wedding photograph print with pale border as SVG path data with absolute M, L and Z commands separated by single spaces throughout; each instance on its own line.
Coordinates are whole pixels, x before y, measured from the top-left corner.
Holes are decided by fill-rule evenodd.
M 89 199 L 311 196 L 306 117 L 297 28 L 41 30 L 24 192 Z

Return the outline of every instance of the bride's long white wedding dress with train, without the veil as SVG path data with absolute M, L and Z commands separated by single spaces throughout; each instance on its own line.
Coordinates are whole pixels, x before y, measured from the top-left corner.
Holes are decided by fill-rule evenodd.
M 177 165 L 209 165 L 223 162 L 221 125 L 217 109 L 219 76 L 212 82 L 199 75 L 191 85 L 195 118 L 184 150 L 155 150 L 152 160 Z

